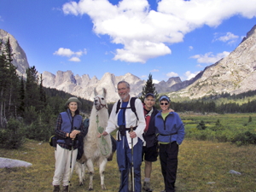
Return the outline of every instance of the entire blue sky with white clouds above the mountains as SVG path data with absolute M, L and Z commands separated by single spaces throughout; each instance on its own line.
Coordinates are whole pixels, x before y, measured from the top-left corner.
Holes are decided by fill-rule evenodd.
M 256 0 L 1 0 L 0 28 L 39 73 L 195 77 L 241 43 Z

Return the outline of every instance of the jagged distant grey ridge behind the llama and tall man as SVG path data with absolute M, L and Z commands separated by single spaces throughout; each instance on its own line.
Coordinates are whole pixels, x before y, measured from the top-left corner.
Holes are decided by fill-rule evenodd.
M 90 79 L 87 74 L 82 77 L 79 75 L 74 76 L 71 71 L 58 71 L 56 75 L 49 72 L 43 73 L 44 87 L 63 90 L 74 96 L 80 96 L 91 101 L 94 98 L 95 88 L 98 92 L 101 92 L 102 88 L 106 88 L 108 90 L 108 102 L 116 102 L 119 99 L 116 84 L 120 80 L 125 80 L 131 84 L 131 96 L 137 96 L 143 90 L 143 85 L 145 84 L 145 81 L 131 73 L 117 77 L 112 73 L 105 73 L 100 80 L 96 77 Z

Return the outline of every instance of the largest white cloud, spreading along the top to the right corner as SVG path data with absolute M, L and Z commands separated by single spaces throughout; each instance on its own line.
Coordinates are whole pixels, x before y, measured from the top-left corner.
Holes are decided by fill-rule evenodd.
M 123 44 L 113 60 L 142 63 L 171 54 L 167 45 L 182 42 L 196 28 L 216 27 L 234 15 L 256 16 L 255 0 L 161 0 L 157 11 L 149 6 L 147 0 L 123 0 L 117 5 L 108 0 L 80 0 L 65 3 L 62 10 L 66 15 L 89 15 L 97 35 Z

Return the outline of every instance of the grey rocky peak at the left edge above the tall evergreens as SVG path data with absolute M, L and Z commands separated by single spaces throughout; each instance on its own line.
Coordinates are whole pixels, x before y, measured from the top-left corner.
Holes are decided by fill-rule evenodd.
M 2 39 L 3 43 L 5 44 L 8 38 L 14 54 L 14 61 L 12 63 L 15 65 L 15 67 L 17 67 L 18 75 L 24 76 L 24 74 L 26 74 L 26 68 L 29 67 L 24 50 L 21 49 L 14 36 L 9 34 L 8 32 L 5 32 L 3 29 L 0 29 L 0 40 Z

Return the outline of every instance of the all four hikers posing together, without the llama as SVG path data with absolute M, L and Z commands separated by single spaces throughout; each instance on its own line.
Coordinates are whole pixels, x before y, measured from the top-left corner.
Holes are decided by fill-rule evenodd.
M 120 81 L 117 84 L 119 102 L 115 102 L 102 136 L 117 131 L 116 150 L 120 172 L 119 192 L 151 192 L 150 176 L 152 162 L 160 156 L 161 172 L 165 189 L 162 192 L 175 191 L 177 176 L 178 147 L 183 142 L 183 122 L 172 109 L 168 96 L 160 96 L 160 108 L 154 108 L 155 96 L 148 93 L 144 104 L 130 96 L 130 84 Z M 69 191 L 70 177 L 74 163 L 70 164 L 70 153 L 73 162 L 76 160 L 77 144 L 74 138 L 84 137 L 84 125 L 79 115 L 81 102 L 71 97 L 66 102 L 67 112 L 60 113 L 55 128 L 59 140 L 55 149 L 54 191 L 60 191 L 61 180 L 64 191 Z M 99 135 L 100 137 L 101 135 Z M 71 149 L 70 143 L 73 143 Z M 72 152 L 71 152 L 72 150 Z M 145 162 L 144 181 L 141 183 L 141 165 Z M 129 178 L 131 174 L 131 178 Z M 130 181 L 129 181 L 130 180 Z

